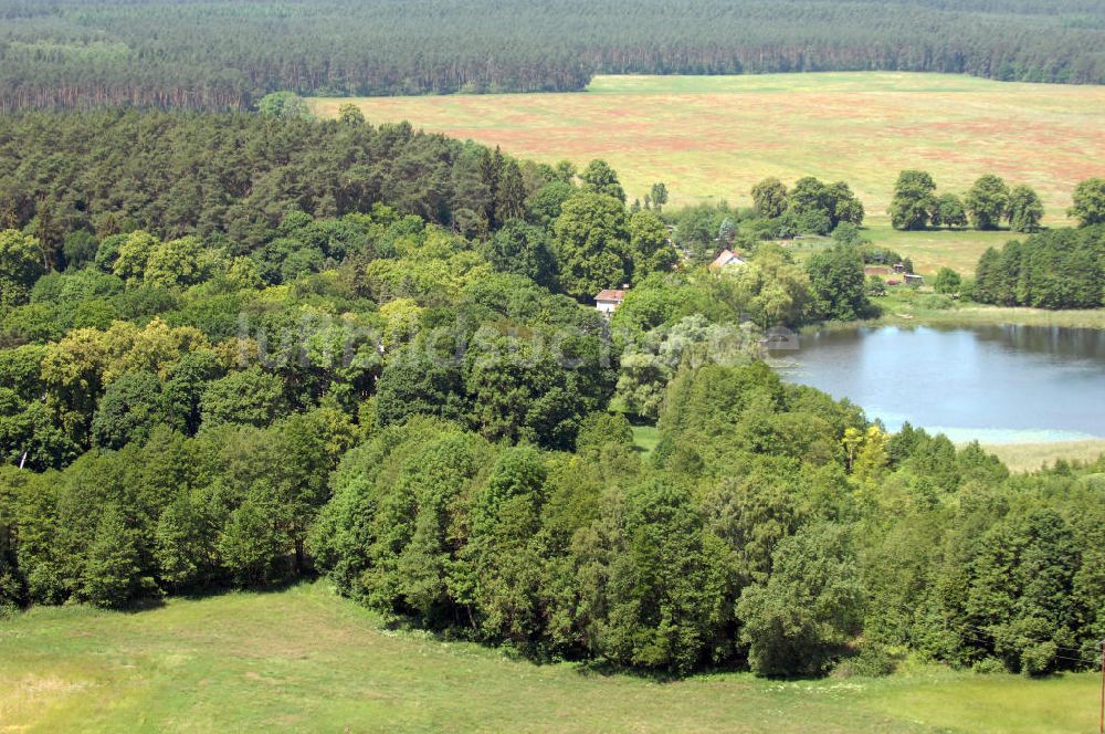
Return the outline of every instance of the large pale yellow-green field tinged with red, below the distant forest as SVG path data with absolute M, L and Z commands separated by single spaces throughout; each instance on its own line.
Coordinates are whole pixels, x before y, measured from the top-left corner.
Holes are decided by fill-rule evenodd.
M 1094 86 L 892 72 L 598 76 L 585 93 L 351 101 L 372 123 L 408 119 L 526 158 L 604 158 L 631 198 L 662 180 L 672 206 L 748 205 L 767 176 L 811 175 L 850 182 L 882 224 L 897 172 L 923 168 L 957 192 L 985 172 L 1029 184 L 1057 224 L 1074 185 L 1105 174 L 1105 87 Z M 312 105 L 329 116 L 347 102 Z M 923 247 L 964 238 L 1001 240 Z

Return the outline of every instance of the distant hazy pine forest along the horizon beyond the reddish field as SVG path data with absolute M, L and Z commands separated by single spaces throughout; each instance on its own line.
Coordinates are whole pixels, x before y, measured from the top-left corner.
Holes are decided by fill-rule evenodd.
M 0 1 L 0 111 L 581 90 L 596 73 L 1105 82 L 1092 0 Z

